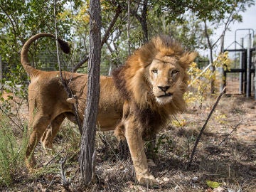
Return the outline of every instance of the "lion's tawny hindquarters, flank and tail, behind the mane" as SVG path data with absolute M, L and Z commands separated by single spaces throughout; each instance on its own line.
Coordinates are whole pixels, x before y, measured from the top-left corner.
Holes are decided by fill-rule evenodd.
M 29 141 L 26 149 L 26 166 L 30 170 L 36 166 L 33 149 L 38 142 L 41 140 L 46 149 L 53 148 L 53 139 L 65 117 L 75 122 L 73 105 L 68 100 L 68 94 L 60 80 L 60 72 L 37 70 L 29 64 L 28 48 L 36 39 L 45 36 L 55 38 L 48 33 L 38 33 L 28 39 L 21 50 L 21 63 L 31 78 L 31 83 L 28 86 Z M 59 41 L 59 43 L 63 44 L 63 41 Z M 63 44 L 63 46 L 67 45 Z M 73 96 L 77 98 L 79 118 L 82 122 L 87 97 L 87 75 L 63 72 L 63 78 L 65 82 L 70 82 L 70 90 L 72 90 Z M 122 118 L 124 101 L 114 87 L 114 81 L 111 77 L 100 77 L 100 90 L 96 123 L 102 131 L 113 130 Z

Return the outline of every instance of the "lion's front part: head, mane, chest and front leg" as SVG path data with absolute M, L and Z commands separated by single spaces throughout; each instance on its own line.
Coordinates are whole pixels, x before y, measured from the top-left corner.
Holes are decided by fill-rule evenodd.
M 196 56 L 168 36 L 157 36 L 113 73 L 115 86 L 125 100 L 122 121 L 114 134 L 127 139 L 139 183 L 156 182 L 149 173 L 143 139 L 155 137 L 171 114 L 185 109 L 186 69 Z

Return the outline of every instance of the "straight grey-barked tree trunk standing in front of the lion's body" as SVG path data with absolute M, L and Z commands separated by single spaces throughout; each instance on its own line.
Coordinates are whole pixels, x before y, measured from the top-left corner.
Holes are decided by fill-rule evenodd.
M 79 159 L 82 181 L 85 184 L 92 179 L 92 156 L 95 151 L 97 107 L 100 97 L 100 28 L 100 0 L 90 0 L 88 88 Z

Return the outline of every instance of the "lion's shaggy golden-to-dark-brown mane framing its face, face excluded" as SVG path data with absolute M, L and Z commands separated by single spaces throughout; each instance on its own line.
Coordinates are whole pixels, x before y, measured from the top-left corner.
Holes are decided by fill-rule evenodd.
M 161 105 L 156 102 L 151 84 L 148 80 L 148 70 L 154 58 L 164 56 L 174 56 L 181 68 L 184 70 L 182 84 L 178 86 L 178 94 L 173 101 Z M 134 113 L 142 127 L 146 127 L 144 135 L 151 132 L 157 132 L 154 127 L 161 127 L 160 124 L 166 123 L 169 114 L 176 114 L 185 109 L 183 93 L 186 92 L 188 75 L 186 69 L 191 63 L 196 53 L 184 50 L 181 45 L 169 36 L 156 36 L 149 43 L 144 44 L 138 50 L 129 56 L 127 62 L 121 67 L 114 70 L 112 75 L 115 85 L 121 93 L 124 100 L 133 105 Z

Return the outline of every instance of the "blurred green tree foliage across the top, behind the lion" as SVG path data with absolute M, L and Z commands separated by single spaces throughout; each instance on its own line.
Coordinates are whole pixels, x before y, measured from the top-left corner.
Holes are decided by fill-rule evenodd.
M 73 48 L 71 56 L 63 56 L 71 68 L 88 53 L 89 43 L 89 0 L 57 1 L 58 34 L 70 42 Z M 130 39 L 132 50 L 143 43 L 144 31 L 138 20 L 142 17 L 143 4 L 146 2 L 146 23 L 149 38 L 159 33 L 166 33 L 180 41 L 188 50 L 208 48 L 202 21 L 221 23 L 225 16 L 233 14 L 234 21 L 241 21 L 240 12 L 252 6 L 252 0 L 214 0 L 214 1 L 131 1 Z M 102 3 L 102 36 L 107 31 L 118 5 L 122 13 L 102 49 L 102 73 L 107 75 L 110 65 L 120 65 L 127 57 L 127 1 L 110 0 Z M 54 33 L 53 1 L 43 0 L 2 0 L 0 3 L 0 55 L 8 63 L 8 68 L 20 65 L 18 51 L 26 39 L 39 32 Z M 220 25 L 220 24 L 219 24 Z M 216 27 L 216 26 L 215 26 Z M 213 34 L 215 28 L 208 29 Z M 40 53 L 50 53 L 48 58 L 55 58 L 55 43 L 43 39 L 31 47 L 31 62 L 38 68 L 44 66 Z M 39 55 L 39 58 L 38 58 Z M 53 59 L 54 60 L 54 59 Z M 46 64 L 47 65 L 47 64 Z M 52 65 L 52 64 L 48 64 Z M 85 70 L 80 70 L 86 72 Z M 24 73 L 24 71 L 23 71 Z M 26 78 L 26 77 L 23 77 Z M 22 79 L 21 79 L 22 80 Z

